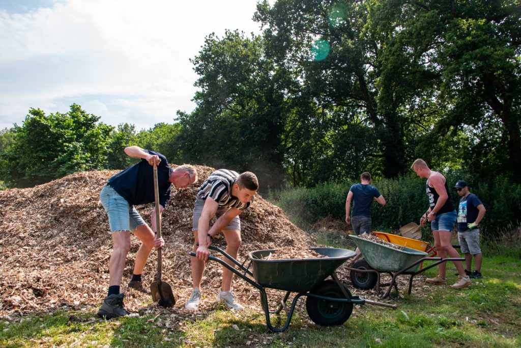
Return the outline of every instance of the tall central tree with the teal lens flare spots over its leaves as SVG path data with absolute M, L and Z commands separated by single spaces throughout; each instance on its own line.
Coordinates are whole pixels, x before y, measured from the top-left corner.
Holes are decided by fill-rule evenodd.
M 259 4 L 257 19 L 268 26 L 265 35 L 278 63 L 302 69 L 311 101 L 337 115 L 336 129 L 374 135 L 365 139 L 378 146 L 359 149 L 358 155 L 366 164 L 378 160 L 380 171 L 393 177 L 407 169 L 405 139 L 414 115 L 405 106 L 436 73 L 420 59 L 429 47 L 407 42 L 404 48 L 411 41 L 401 35 L 404 20 L 375 30 L 381 15 L 370 2 L 280 0 L 273 7 Z

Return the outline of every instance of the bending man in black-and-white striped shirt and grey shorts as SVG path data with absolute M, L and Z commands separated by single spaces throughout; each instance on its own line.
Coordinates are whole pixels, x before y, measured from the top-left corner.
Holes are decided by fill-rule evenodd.
M 203 279 L 205 262 L 208 260 L 208 247 L 212 244 L 212 237 L 222 233 L 226 238 L 226 252 L 237 258 L 241 246 L 241 221 L 239 214 L 251 203 L 258 189 L 258 181 L 252 172 L 237 172 L 219 169 L 206 179 L 201 185 L 195 198 L 193 214 L 193 251 L 196 256 L 191 258 L 193 291 L 184 308 L 197 310 L 201 302 L 201 281 Z M 210 220 L 216 217 L 210 228 Z M 199 243 L 199 246 L 197 246 Z M 226 259 L 229 265 L 233 263 Z M 235 301 L 231 292 L 233 273 L 226 267 L 222 268 L 222 284 L 217 301 L 224 303 L 228 308 L 242 310 L 244 307 Z

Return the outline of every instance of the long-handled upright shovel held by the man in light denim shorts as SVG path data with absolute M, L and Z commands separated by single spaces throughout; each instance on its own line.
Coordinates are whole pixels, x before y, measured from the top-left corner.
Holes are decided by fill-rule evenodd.
M 157 238 L 161 238 L 161 218 L 159 217 L 159 188 L 157 185 L 157 165 L 154 164 L 154 194 L 156 198 L 156 227 Z M 173 297 L 172 288 L 167 283 L 161 281 L 162 258 L 161 249 L 157 250 L 157 274 L 156 280 L 150 284 L 150 293 L 154 302 L 162 307 L 172 307 L 176 304 Z

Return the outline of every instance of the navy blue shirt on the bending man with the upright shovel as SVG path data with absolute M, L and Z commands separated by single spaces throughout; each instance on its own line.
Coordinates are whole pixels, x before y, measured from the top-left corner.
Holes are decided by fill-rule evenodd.
M 157 165 L 157 186 L 159 204 L 165 207 L 166 202 L 170 199 L 171 183 L 168 179 L 173 169 L 168 165 L 164 155 L 151 150 L 144 151 L 149 154 L 156 154 L 161 159 L 161 162 Z M 144 159 L 108 179 L 108 185 L 125 198 L 131 206 L 155 201 L 154 167 Z

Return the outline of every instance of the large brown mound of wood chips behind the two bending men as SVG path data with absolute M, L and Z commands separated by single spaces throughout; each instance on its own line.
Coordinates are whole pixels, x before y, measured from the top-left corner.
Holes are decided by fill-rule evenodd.
M 172 309 L 157 308 L 150 305 L 150 295 L 126 289 L 140 245 L 132 236 L 121 284 L 121 290 L 126 293 L 125 305 L 130 311 L 150 313 L 157 310 L 158 313 L 168 311 L 169 316 L 193 315 L 183 307 L 192 291 L 189 253 L 193 245 L 193 206 L 197 188 L 214 171 L 206 166 L 195 167 L 199 173 L 197 182 L 186 189 L 172 188 L 163 213 L 162 232 L 166 241 L 163 281 L 171 285 L 177 304 Z M 116 173 L 82 172 L 33 188 L 0 191 L 0 315 L 52 311 L 63 306 L 95 313 L 106 296 L 112 251 L 107 214 L 99 202 L 99 195 L 107 179 Z M 153 206 L 137 207 L 149 224 Z M 259 195 L 241 214 L 241 226 L 240 262 L 252 250 L 281 247 L 307 250 L 317 246 L 315 240 L 291 223 L 280 208 Z M 218 236 L 213 243 L 226 247 L 224 237 Z M 156 253 L 152 251 L 143 271 L 145 287 L 154 280 L 156 260 Z M 215 307 L 221 273 L 217 262 L 206 264 L 202 312 Z M 240 302 L 259 308 L 258 291 L 237 277 L 234 292 Z

